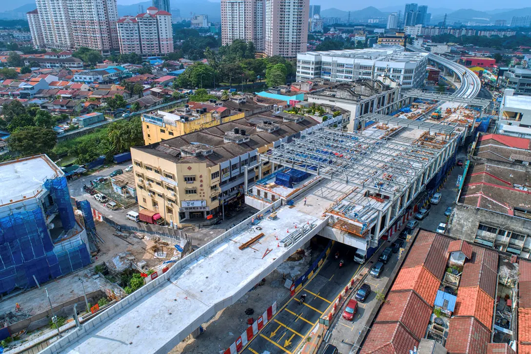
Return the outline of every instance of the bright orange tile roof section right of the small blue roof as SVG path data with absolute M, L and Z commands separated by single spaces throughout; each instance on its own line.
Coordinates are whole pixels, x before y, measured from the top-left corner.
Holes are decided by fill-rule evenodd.
M 454 316 L 474 316 L 485 327 L 492 326 L 494 299 L 488 296 L 479 286 L 464 288 L 459 286 Z

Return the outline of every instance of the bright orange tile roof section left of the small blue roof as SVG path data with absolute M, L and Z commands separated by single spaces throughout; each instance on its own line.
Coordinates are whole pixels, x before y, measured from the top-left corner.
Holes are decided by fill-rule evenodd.
M 410 252 L 411 254 L 411 252 Z M 402 268 L 393 283 L 391 291 L 415 290 L 430 306 L 433 306 L 440 281 L 423 266 Z

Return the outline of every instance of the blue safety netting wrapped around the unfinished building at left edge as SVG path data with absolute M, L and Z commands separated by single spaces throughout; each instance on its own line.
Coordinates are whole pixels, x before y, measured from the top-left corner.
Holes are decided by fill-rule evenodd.
M 66 179 L 47 180 L 45 188 L 57 206 L 64 230 L 73 229 L 75 218 Z M 0 218 L 0 293 L 29 289 L 37 285 L 35 280 L 46 283 L 90 264 L 82 238 L 64 242 L 68 246 L 61 245 L 54 251 L 43 209 L 37 203 Z

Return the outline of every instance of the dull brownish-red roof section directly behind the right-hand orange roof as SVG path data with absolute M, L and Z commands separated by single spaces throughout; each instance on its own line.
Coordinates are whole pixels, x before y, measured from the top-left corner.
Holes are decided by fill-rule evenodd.
M 472 246 L 472 258 L 465 262 L 459 287 L 479 286 L 491 298 L 496 296 L 498 254 L 481 247 Z

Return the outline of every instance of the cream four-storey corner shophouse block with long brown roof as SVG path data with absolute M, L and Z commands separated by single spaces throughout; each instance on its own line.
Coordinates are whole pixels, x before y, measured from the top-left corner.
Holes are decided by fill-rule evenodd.
M 258 165 L 258 154 L 320 124 L 272 106 L 262 108 L 258 114 L 132 148 L 139 206 L 157 211 L 169 224 L 222 215 L 228 203 L 243 199 L 245 176 L 256 181 L 277 170 L 268 162 Z M 152 117 L 144 115 L 146 131 L 162 129 L 147 119 Z M 245 173 L 244 166 L 255 167 Z

